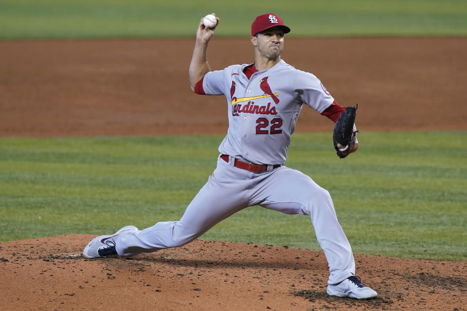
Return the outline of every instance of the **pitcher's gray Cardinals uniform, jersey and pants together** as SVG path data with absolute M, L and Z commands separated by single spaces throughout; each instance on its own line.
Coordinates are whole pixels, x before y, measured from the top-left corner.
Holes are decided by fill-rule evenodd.
M 337 284 L 355 274 L 355 262 L 329 192 L 304 173 L 274 165 L 286 160 L 303 104 L 321 113 L 334 99 L 314 75 L 282 60 L 250 79 L 243 73 L 246 66 L 234 65 L 204 76 L 204 93 L 224 94 L 229 106 L 229 130 L 219 146 L 222 156 L 204 187 L 179 221 L 123 232 L 114 237 L 115 249 L 120 256 L 132 256 L 181 246 L 235 212 L 259 205 L 310 216 L 328 260 L 328 283 Z M 267 170 L 255 173 L 239 168 L 236 159 L 268 164 Z

